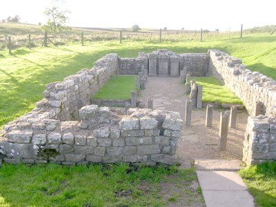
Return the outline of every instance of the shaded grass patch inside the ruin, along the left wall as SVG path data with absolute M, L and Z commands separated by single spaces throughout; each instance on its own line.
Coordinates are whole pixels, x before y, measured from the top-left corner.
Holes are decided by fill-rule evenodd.
M 130 99 L 130 92 L 135 89 L 135 76 L 112 77 L 93 96 L 93 99 Z

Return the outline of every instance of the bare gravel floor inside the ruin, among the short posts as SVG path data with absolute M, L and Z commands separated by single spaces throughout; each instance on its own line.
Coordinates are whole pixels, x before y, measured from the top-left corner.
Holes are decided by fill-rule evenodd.
M 179 77 L 148 77 L 146 89 L 141 90 L 139 99 L 146 103 L 148 98 L 152 98 L 154 109 L 176 111 L 184 119 L 185 101 L 188 98 L 184 89 Z M 236 128 L 228 130 L 226 150 L 218 150 L 220 112 L 213 111 L 213 127 L 207 128 L 206 108 L 193 109 L 192 126 L 182 128 L 177 149 L 179 159 L 242 159 L 248 114 L 246 110 L 238 111 Z

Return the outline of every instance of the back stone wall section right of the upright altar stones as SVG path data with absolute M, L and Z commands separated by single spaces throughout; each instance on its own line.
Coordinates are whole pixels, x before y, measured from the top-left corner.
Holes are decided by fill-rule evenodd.
M 210 55 L 208 53 L 179 54 L 179 71 L 184 67 L 187 74 L 196 77 L 205 77 L 209 68 Z

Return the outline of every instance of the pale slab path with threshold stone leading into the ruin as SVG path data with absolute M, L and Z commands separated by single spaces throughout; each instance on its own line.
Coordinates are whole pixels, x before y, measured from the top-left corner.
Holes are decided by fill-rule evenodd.
M 207 207 L 252 207 L 254 199 L 242 178 L 239 161 L 196 160 L 195 169 Z

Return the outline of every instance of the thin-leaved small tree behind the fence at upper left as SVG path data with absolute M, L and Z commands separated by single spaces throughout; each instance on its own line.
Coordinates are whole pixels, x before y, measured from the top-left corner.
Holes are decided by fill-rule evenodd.
M 56 37 L 57 32 L 70 29 L 70 27 L 66 26 L 66 23 L 68 22 L 68 13 L 70 13 L 70 11 L 59 10 L 56 6 L 46 8 L 44 14 L 48 17 L 48 21 L 41 26 L 43 32 L 50 32 L 54 37 Z

